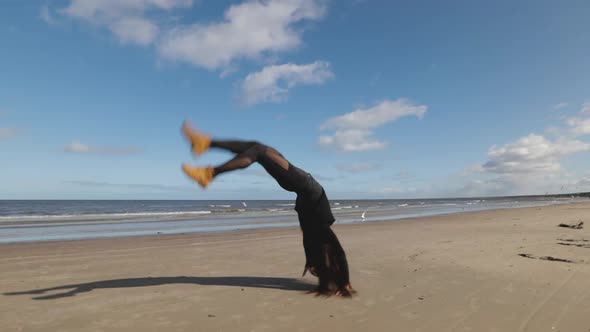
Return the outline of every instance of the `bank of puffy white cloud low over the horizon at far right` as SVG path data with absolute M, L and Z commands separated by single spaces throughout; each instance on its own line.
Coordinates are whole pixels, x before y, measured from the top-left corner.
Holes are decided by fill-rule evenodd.
M 501 147 L 492 146 L 488 160 L 477 171 L 491 176 L 467 183 L 466 194 L 521 195 L 581 191 L 585 182 L 561 165 L 568 155 L 590 150 L 590 144 L 575 139 L 590 134 L 590 104 L 565 119 L 566 126 L 546 129 L 554 139 L 530 134 Z

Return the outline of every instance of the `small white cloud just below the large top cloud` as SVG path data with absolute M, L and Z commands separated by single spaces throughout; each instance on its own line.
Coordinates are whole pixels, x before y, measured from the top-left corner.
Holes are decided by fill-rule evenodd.
M 279 102 L 297 85 L 319 85 L 334 77 L 330 64 L 316 61 L 306 65 L 292 63 L 266 66 L 250 73 L 241 86 L 241 101 L 246 105 Z

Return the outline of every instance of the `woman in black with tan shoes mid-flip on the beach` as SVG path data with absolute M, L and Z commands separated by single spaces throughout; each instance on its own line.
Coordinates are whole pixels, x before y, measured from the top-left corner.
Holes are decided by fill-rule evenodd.
M 188 123 L 182 127 L 192 151 L 200 155 L 209 148 L 219 148 L 235 153 L 235 157 L 217 167 L 191 167 L 183 165 L 183 171 L 205 188 L 218 175 L 242 169 L 258 162 L 279 185 L 297 194 L 295 210 L 303 232 L 305 268 L 319 279 L 317 292 L 351 296 L 348 262 L 336 234 L 330 226 L 335 219 L 324 188 L 307 172 L 291 164 L 277 150 L 256 141 L 217 140 L 193 130 Z

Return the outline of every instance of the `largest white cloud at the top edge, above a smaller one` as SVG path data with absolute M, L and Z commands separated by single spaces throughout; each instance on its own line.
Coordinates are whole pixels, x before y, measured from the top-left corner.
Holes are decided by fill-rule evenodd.
M 301 32 L 294 25 L 318 20 L 324 12 L 318 0 L 250 0 L 231 6 L 221 22 L 172 29 L 158 50 L 165 58 L 207 69 L 227 67 L 235 59 L 298 47 Z

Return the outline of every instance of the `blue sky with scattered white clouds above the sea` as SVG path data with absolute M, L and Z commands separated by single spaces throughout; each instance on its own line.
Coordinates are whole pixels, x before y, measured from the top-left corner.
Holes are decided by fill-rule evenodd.
M 184 119 L 256 139 L 331 198 L 590 191 L 587 1 L 0 4 L 0 199 L 290 199 L 256 165 L 201 190 Z

